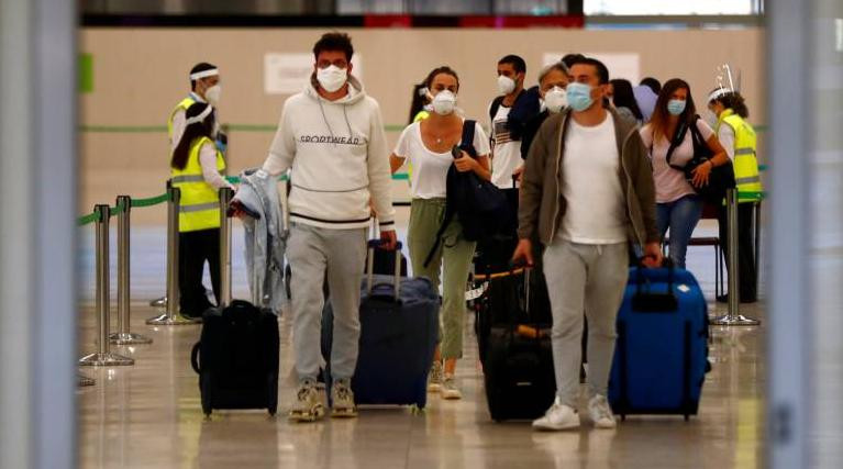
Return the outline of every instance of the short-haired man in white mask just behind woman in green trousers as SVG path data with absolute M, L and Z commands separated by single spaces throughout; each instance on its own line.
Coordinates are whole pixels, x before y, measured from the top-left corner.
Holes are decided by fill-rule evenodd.
M 513 176 L 522 170 L 521 135 L 526 123 L 539 114 L 537 91 L 524 90 L 526 63 L 517 55 L 498 60 L 500 96 L 489 105 L 491 120 L 491 182 L 501 188 L 514 188 Z

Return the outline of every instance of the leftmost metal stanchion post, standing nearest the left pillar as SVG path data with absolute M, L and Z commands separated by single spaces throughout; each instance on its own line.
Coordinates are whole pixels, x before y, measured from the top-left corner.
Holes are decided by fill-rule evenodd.
M 109 313 L 111 294 L 109 289 L 109 206 L 97 205 L 97 351 L 79 359 L 79 365 L 113 367 L 134 365 L 134 360 L 109 350 Z

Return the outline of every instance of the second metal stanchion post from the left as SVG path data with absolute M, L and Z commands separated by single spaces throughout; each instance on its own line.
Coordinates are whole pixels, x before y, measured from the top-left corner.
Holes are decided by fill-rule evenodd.
M 152 344 L 149 337 L 130 332 L 129 233 L 132 225 L 129 213 L 132 198 L 118 196 L 117 205 L 121 209 L 118 213 L 118 332 L 111 334 L 110 339 L 117 345 Z

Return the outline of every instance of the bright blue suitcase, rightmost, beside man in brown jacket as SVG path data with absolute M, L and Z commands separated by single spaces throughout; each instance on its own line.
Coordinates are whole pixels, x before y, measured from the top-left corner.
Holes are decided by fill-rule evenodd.
M 708 336 L 708 305 L 689 271 L 631 268 L 609 380 L 614 413 L 696 415 Z

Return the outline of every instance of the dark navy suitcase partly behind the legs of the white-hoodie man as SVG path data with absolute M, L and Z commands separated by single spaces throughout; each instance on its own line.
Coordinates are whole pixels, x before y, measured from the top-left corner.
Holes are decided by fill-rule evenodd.
M 426 278 L 401 278 L 400 257 L 392 259 L 397 273 L 374 275 L 378 244 L 379 241 L 369 242 L 367 276 L 362 286 L 359 355 L 352 378 L 354 399 L 357 404 L 423 409 L 439 335 L 440 297 Z M 399 243 L 397 249 L 400 248 Z M 331 303 L 325 302 L 322 354 L 328 362 L 329 387 L 332 339 L 333 311 Z

